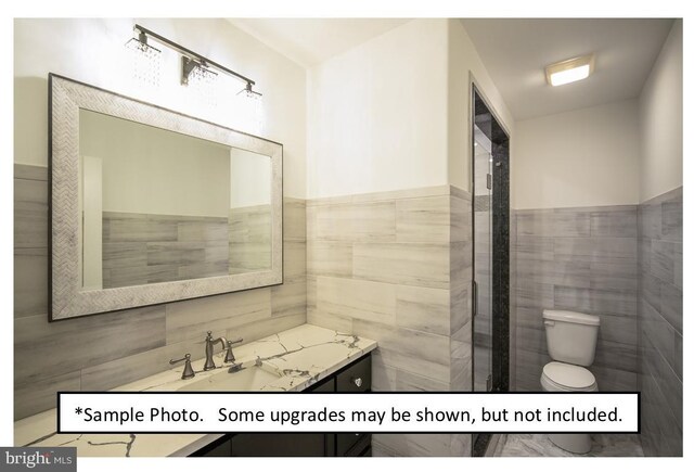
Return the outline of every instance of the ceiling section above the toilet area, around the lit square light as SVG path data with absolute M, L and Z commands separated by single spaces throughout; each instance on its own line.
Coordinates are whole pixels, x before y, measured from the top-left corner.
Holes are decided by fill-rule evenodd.
M 461 20 L 516 120 L 638 97 L 672 20 Z M 549 64 L 595 53 L 588 79 L 551 87 Z

